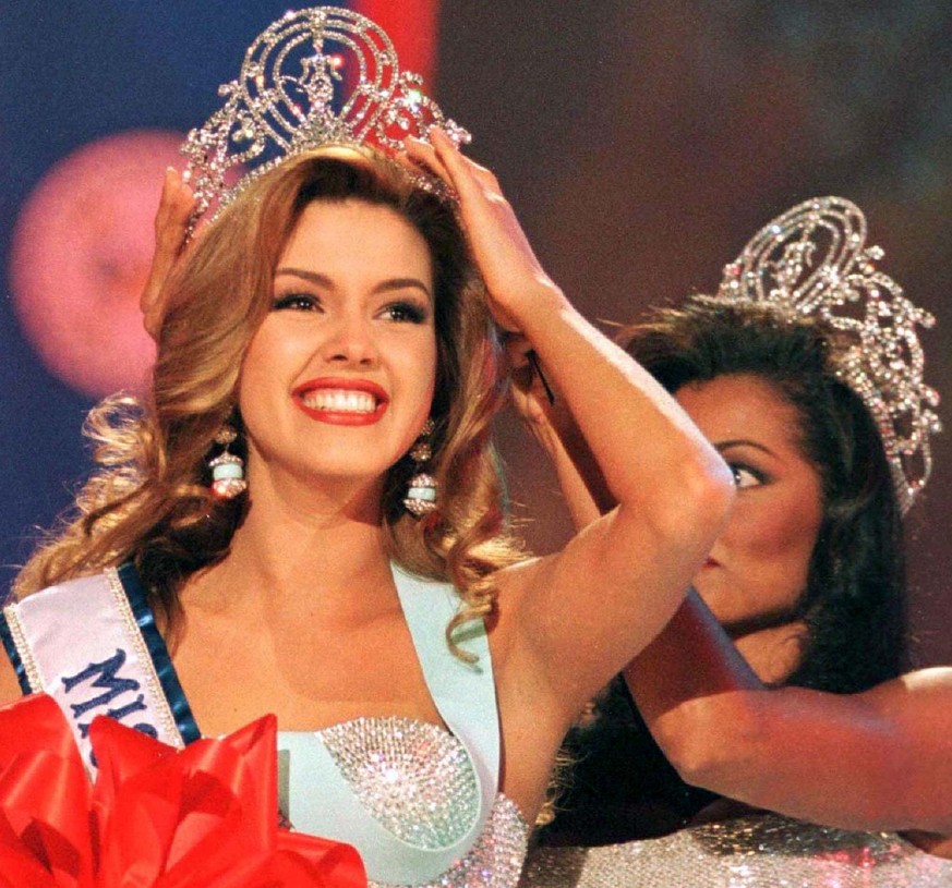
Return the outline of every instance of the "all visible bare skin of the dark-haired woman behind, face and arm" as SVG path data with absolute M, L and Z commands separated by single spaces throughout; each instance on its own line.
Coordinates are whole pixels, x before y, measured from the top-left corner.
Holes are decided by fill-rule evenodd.
M 800 628 L 783 613 L 816 543 L 819 479 L 799 452 L 795 414 L 767 382 L 719 377 L 677 400 L 731 464 L 738 496 L 711 547 L 716 564 L 709 559 L 694 577 L 700 595 L 691 592 L 624 670 L 655 740 L 687 782 L 727 799 L 846 829 L 903 831 L 952 857 L 952 669 L 858 694 L 767 690 L 763 681 L 797 661 Z M 611 494 L 576 446 L 570 415 L 549 407 L 538 380 L 517 404 L 585 526 Z M 748 443 L 727 446 L 737 439 Z M 761 611 L 769 628 L 756 628 Z

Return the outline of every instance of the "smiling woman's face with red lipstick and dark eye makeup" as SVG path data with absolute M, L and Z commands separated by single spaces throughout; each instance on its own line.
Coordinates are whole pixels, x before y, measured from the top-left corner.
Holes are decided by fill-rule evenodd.
M 250 460 L 256 490 L 274 486 L 265 473 L 357 478 L 361 463 L 376 484 L 410 450 L 436 380 L 431 266 L 424 236 L 390 207 L 347 199 L 301 214 L 239 386 L 250 450 L 265 457 Z

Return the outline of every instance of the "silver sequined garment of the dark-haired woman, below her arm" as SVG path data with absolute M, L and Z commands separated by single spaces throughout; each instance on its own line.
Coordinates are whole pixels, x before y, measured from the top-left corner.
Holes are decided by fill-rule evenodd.
M 520 888 L 952 888 L 952 861 L 893 834 L 752 815 L 601 848 L 534 850 Z

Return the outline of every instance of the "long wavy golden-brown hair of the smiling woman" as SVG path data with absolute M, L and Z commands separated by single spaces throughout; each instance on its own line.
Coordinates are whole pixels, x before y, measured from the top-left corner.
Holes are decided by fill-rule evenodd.
M 388 473 L 382 503 L 390 557 L 407 570 L 451 582 L 463 607 L 456 630 L 494 608 L 493 573 L 522 557 L 506 527 L 491 441 L 504 397 L 501 349 L 482 283 L 454 208 L 370 149 L 328 147 L 252 180 L 179 263 L 164 291 L 152 391 L 107 399 L 87 419 L 97 471 L 75 510 L 14 583 L 23 597 L 132 560 L 157 616 L 170 629 L 185 580 L 221 559 L 248 508 L 217 500 L 207 460 L 236 409 L 244 353 L 269 311 L 285 244 L 313 200 L 366 200 L 406 218 L 430 246 L 435 280 L 436 389 L 431 416 L 438 510 L 422 521 L 402 507 L 413 463 Z M 238 442 L 241 448 L 241 439 Z M 251 491 L 253 499 L 254 491 Z

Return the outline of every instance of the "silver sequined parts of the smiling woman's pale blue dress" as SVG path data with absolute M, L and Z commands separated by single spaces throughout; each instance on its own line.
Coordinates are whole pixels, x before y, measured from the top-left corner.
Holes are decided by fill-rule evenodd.
M 479 786 L 462 744 L 435 725 L 359 718 L 321 732 L 367 811 L 399 839 L 437 849 L 458 841 L 479 807 Z M 515 888 L 529 828 L 511 801 L 496 798 L 470 851 L 419 888 Z M 371 881 L 371 888 L 396 888 Z

